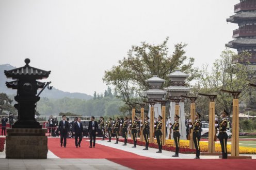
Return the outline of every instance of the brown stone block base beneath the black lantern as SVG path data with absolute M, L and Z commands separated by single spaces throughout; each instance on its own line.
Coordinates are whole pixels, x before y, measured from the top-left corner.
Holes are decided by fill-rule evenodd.
M 7 128 L 6 158 L 47 159 L 47 129 Z

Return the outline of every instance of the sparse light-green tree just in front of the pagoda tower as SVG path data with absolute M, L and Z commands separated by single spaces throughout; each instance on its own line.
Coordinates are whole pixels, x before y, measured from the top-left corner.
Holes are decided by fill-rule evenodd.
M 202 70 L 198 72 L 197 80 L 200 84 L 198 92 L 216 94 L 216 106 L 219 109 L 226 109 L 231 112 L 233 107 L 233 97 L 229 93 L 221 92 L 221 89 L 230 91 L 242 91 L 239 95 L 239 103 L 249 95 L 248 83 L 252 82 L 250 75 L 253 70 L 250 69 L 249 62 L 244 61 L 243 64 L 234 63 L 235 60 L 246 60 L 243 54 L 235 54 L 234 52 L 226 49 L 221 52 L 220 59 L 216 60 L 213 64 L 211 72 L 207 70 L 207 65 L 203 66 Z M 197 93 L 197 92 L 196 92 Z

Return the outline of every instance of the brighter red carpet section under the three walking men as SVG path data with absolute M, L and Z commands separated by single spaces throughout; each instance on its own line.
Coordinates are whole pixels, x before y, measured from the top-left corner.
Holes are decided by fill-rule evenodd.
M 107 141 L 106 141 L 107 142 Z M 89 148 L 90 143 L 85 141 L 81 142 L 81 148 L 75 147 L 75 139 L 67 139 L 67 147 L 60 147 L 59 138 L 48 138 L 48 148 L 59 158 L 94 158 L 94 159 L 111 159 L 111 158 L 122 158 L 122 159 L 145 159 L 130 152 L 125 152 L 120 149 L 103 146 L 100 144 L 95 145 L 95 148 Z

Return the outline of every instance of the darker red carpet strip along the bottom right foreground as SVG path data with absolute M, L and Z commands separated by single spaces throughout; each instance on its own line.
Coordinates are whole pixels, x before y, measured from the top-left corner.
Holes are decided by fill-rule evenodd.
M 108 159 L 132 169 L 255 169 L 256 160 L 218 160 L 218 159 Z

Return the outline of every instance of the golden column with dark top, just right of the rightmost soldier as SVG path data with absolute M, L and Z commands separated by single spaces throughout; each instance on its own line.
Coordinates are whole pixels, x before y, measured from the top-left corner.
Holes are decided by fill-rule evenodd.
M 249 84 L 250 86 L 253 86 Z M 231 156 L 228 159 L 251 159 L 251 156 L 239 156 L 239 102 L 238 96 L 241 91 L 223 90 L 222 92 L 231 93 L 233 96 L 233 117 L 232 117 L 232 140 L 231 140 Z M 222 158 L 222 156 L 219 156 Z

